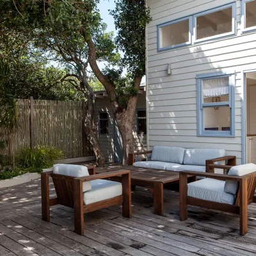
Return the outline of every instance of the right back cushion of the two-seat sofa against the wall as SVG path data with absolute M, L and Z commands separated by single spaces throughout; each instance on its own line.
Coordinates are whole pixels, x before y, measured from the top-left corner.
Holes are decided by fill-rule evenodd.
M 205 166 L 205 160 L 225 156 L 224 149 L 187 148 L 184 164 Z

